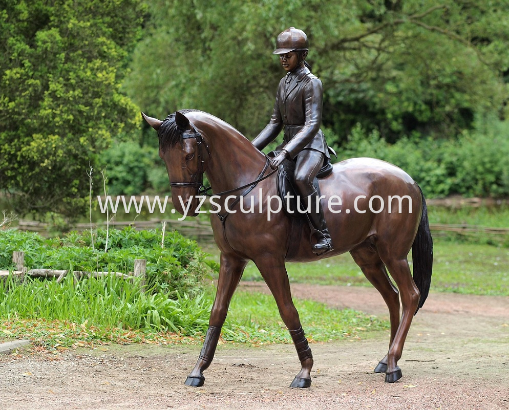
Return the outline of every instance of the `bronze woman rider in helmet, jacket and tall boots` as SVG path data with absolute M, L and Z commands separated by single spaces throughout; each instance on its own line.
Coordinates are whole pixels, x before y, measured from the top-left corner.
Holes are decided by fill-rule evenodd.
M 270 122 L 252 143 L 262 150 L 284 128 L 279 154 L 271 160 L 270 166 L 277 168 L 285 158 L 295 161 L 295 186 L 304 202 L 309 221 L 317 231 L 313 252 L 322 254 L 333 247 L 314 181 L 324 161 L 330 160 L 330 155 L 320 130 L 322 81 L 311 74 L 310 66 L 305 61 L 308 50 L 308 38 L 302 30 L 290 27 L 278 36 L 273 54 L 279 54 L 287 75 L 279 82 Z

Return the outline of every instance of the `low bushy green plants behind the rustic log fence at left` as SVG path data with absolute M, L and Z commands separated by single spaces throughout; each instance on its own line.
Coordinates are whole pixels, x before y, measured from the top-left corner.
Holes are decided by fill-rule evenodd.
M 76 271 L 111 271 L 129 273 L 135 259 L 147 261 L 147 289 L 164 292 L 170 298 L 177 294 L 194 295 L 210 272 L 205 255 L 196 242 L 177 231 L 136 231 L 134 228 L 112 230 L 108 252 L 104 252 L 106 231 L 71 232 L 63 238 L 46 239 L 37 233 L 17 230 L 0 231 L 0 268 L 12 268 L 12 252 L 25 252 L 28 269 L 69 269 Z

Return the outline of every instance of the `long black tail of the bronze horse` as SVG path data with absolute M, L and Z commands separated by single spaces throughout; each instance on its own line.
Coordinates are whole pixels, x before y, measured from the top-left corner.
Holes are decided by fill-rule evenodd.
M 415 313 L 417 313 L 419 308 L 422 308 L 428 297 L 431 285 L 431 271 L 433 269 L 433 238 L 431 238 L 430 222 L 428 220 L 428 207 L 420 187 L 419 190 L 422 198 L 422 214 L 419 229 L 412 244 L 413 278 L 415 285 L 420 291 L 419 306 Z

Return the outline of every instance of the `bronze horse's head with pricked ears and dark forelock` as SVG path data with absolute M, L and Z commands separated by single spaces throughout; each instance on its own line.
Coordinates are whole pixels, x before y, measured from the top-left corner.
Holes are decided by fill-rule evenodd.
M 159 157 L 166 165 L 175 209 L 195 217 L 199 204 L 197 196 L 203 186 L 203 172 L 209 157 L 206 142 L 179 111 L 164 121 L 141 114 L 157 131 Z

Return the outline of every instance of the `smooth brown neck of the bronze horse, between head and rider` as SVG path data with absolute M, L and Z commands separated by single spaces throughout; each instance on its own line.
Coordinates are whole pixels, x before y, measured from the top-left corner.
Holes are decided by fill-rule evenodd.
M 266 157 L 234 127 L 221 122 L 201 128 L 210 151 L 206 175 L 214 192 L 234 189 L 258 177 Z

